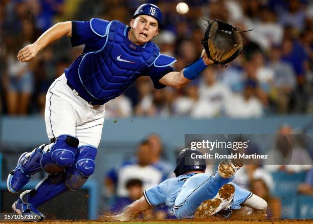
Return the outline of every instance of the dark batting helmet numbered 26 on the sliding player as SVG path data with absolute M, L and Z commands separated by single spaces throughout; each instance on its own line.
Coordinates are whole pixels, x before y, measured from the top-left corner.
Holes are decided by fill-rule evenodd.
M 194 153 L 195 155 L 203 155 L 198 149 L 191 150 L 190 148 L 183 149 L 178 155 L 176 159 L 176 168 L 174 173 L 176 176 L 180 176 L 188 171 L 191 170 L 202 170 L 205 171 L 206 160 L 205 159 L 191 159 L 191 154 Z M 185 157 L 187 156 L 187 157 Z M 185 164 L 185 161 L 187 164 Z

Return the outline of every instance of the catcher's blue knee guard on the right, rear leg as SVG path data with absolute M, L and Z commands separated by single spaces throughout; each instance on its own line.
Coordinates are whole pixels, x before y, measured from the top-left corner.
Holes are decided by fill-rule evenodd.
M 88 176 L 95 172 L 97 148 L 91 145 L 78 147 L 75 164 L 66 170 L 65 185 L 76 191 L 87 181 Z

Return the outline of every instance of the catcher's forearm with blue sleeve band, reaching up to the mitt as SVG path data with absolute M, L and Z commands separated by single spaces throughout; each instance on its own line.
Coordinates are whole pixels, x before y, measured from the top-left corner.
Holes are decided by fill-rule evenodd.
M 187 65 L 185 69 L 180 72 L 167 73 L 159 80 L 159 82 L 167 86 L 181 88 L 191 80 L 195 79 L 203 70 L 207 68 L 208 65 L 213 63 L 214 61 L 208 58 L 204 50 L 201 57 Z

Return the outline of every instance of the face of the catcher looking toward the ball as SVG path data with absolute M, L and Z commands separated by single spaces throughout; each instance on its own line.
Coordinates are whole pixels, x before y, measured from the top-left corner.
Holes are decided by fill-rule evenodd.
M 138 45 L 150 41 L 159 33 L 158 20 L 148 16 L 140 15 L 130 21 L 130 40 Z

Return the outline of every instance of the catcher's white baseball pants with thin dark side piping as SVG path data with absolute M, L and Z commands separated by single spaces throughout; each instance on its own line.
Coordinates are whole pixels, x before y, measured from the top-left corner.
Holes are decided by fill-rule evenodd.
M 75 136 L 80 145 L 98 148 L 104 123 L 105 106 L 90 105 L 66 84 L 63 73 L 49 87 L 46 95 L 46 121 L 49 139 L 59 135 Z

